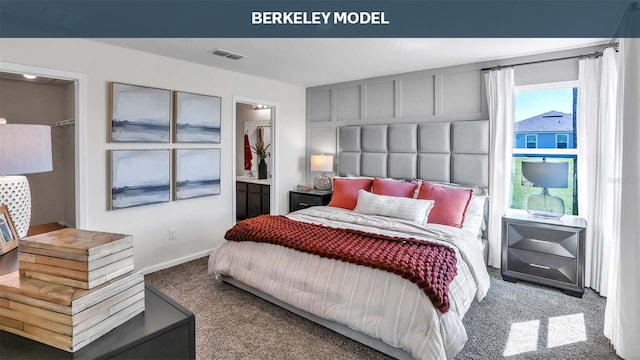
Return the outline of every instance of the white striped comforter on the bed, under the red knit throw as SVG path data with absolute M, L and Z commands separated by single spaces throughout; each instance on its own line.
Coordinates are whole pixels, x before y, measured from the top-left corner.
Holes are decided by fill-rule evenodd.
M 231 276 L 312 313 L 400 347 L 416 359 L 452 359 L 467 341 L 462 317 L 489 289 L 476 236 L 449 226 L 312 207 L 289 218 L 332 227 L 444 242 L 456 249 L 458 274 L 443 314 L 415 284 L 398 275 L 282 246 L 226 241 L 211 253 L 209 272 Z

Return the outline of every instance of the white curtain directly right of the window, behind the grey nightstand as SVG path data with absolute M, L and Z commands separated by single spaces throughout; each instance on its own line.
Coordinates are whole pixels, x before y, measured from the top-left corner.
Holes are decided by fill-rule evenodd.
M 607 296 L 611 242 L 618 236 L 619 183 L 616 153 L 618 98 L 617 55 L 612 48 L 602 58 L 579 62 L 578 90 L 578 213 L 587 221 L 585 286 Z

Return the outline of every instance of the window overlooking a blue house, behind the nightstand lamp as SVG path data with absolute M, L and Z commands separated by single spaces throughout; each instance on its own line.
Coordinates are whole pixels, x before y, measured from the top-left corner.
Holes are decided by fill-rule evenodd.
M 527 198 L 539 187 L 522 185 L 523 161 L 568 163 L 568 187 L 549 188 L 564 200 L 565 213 L 578 213 L 576 181 L 577 81 L 516 87 L 511 208 L 525 209 Z

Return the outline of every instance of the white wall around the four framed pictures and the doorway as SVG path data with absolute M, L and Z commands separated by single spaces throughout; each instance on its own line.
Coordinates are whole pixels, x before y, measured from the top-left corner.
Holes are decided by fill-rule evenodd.
M 138 269 L 157 269 L 205 254 L 232 225 L 232 96 L 278 103 L 275 130 L 278 213 L 288 210 L 288 190 L 304 178 L 305 89 L 255 76 L 151 55 L 81 39 L 0 39 L 3 62 L 87 75 L 88 228 L 133 235 Z M 110 81 L 222 97 L 221 194 L 197 199 L 107 210 L 107 150 L 174 148 L 174 144 L 110 144 Z M 198 147 L 188 145 L 186 147 Z M 276 175 L 277 176 L 277 175 Z M 177 239 L 168 240 L 168 228 Z

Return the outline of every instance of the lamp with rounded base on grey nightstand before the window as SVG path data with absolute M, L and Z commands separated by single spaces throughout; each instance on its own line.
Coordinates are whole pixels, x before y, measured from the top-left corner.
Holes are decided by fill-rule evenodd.
M 527 198 L 527 212 L 535 216 L 559 218 L 564 215 L 564 201 L 549 194 L 549 188 L 567 188 L 569 163 L 523 161 L 522 186 L 541 187 L 540 194 Z

